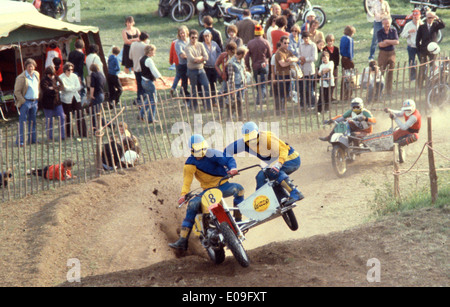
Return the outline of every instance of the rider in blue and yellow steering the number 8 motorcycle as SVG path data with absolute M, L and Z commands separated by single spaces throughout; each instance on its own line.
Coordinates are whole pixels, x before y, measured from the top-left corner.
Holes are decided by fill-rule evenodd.
M 191 155 L 186 160 L 183 169 L 183 188 L 179 204 L 185 201 L 185 195 L 190 191 L 192 181 L 195 178 L 200 182 L 203 192 L 194 197 L 188 204 L 186 217 L 181 224 L 180 238 L 169 246 L 175 249 L 187 250 L 188 239 L 194 226 L 195 216 L 201 210 L 201 197 L 207 189 L 214 188 L 219 181 L 227 176 L 238 174 L 236 160 L 225 157 L 223 153 L 216 149 L 209 149 L 205 138 L 199 134 L 194 134 L 189 140 Z M 222 184 L 217 187 L 222 191 L 223 197 L 233 196 L 233 204 L 236 207 L 244 200 L 244 188 L 238 183 L 230 183 L 222 180 Z

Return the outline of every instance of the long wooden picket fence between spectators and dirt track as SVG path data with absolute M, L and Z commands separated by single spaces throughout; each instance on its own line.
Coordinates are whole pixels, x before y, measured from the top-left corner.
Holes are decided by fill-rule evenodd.
M 389 93 L 386 84 L 377 84 L 376 78 L 357 70 L 332 76 L 334 87 L 323 86 L 331 78 L 300 78 L 295 73 L 279 78 L 274 71 L 268 81 L 256 80 L 228 91 L 224 87 L 221 90 L 219 84 L 216 90 L 200 87 L 197 95 L 189 96 L 183 91 L 174 96 L 169 91 L 158 91 L 153 121 L 149 120 L 151 108 L 136 100 L 111 105 L 105 102 L 70 113 L 65 120 L 38 119 L 35 144 L 27 142 L 30 127 L 24 125 L 23 147 L 17 146 L 19 124 L 10 124 L 0 130 L 1 199 L 5 202 L 67 184 L 86 183 L 105 173 L 177 157 L 180 152 L 186 154 L 183 144 L 198 129 L 205 137 L 213 134 L 214 127 L 226 131 L 231 126 L 239 134 L 240 123 L 252 120 L 278 123 L 283 137 L 316 131 L 325 120 L 343 114 L 354 97 L 363 98 L 366 108 L 372 111 L 400 108 L 403 100 L 411 98 L 426 113 L 430 90 L 436 83 L 449 82 L 448 66 L 445 57 L 417 66 L 406 62 L 397 65 L 390 71 L 393 81 Z M 422 70 L 423 84 L 411 78 L 414 68 Z M 385 74 L 381 72 L 381 80 Z M 206 93 L 213 95 L 203 97 Z M 258 97 L 263 99 L 257 101 Z M 141 98 L 149 101 L 148 97 Z M 213 128 L 205 129 L 208 125 Z M 227 144 L 216 147 L 221 145 Z M 58 174 L 48 172 L 50 166 L 67 160 L 73 162 L 71 178 L 63 174 L 67 167 L 51 169 Z

